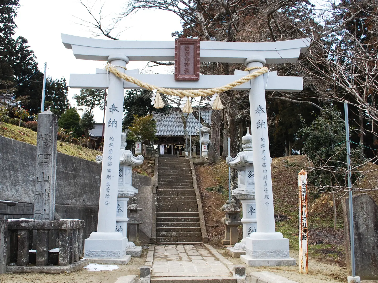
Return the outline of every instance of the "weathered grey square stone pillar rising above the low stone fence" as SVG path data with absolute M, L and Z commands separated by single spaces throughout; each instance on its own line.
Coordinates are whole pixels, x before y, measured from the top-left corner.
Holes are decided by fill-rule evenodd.
M 35 220 L 54 220 L 57 130 L 53 112 L 38 114 Z

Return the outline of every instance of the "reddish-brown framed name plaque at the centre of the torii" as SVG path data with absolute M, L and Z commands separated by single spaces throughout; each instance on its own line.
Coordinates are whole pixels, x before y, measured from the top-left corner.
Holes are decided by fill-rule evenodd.
M 198 81 L 200 79 L 200 39 L 175 39 L 175 80 Z

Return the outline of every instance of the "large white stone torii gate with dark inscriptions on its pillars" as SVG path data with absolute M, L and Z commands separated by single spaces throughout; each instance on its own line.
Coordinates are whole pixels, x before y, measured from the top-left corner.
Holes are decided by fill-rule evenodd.
M 174 41 L 112 41 L 62 34 L 62 42 L 72 49 L 77 59 L 107 61 L 138 80 L 170 89 L 215 88 L 255 71 L 235 70 L 234 75 L 199 75 L 196 81 L 177 81 L 174 75 L 138 74 L 138 69 L 122 68 L 129 61 L 174 60 Z M 200 42 L 200 62 L 244 63 L 247 67 L 293 63 L 309 45 L 309 38 L 262 43 Z M 108 89 L 103 158 L 104 161 L 119 160 L 119 151 L 112 149 L 119 149 L 121 145 L 124 89 L 141 88 L 103 69 L 96 69 L 95 74 L 71 74 L 69 85 L 71 88 Z M 267 72 L 233 89 L 249 90 L 256 186 L 257 232 L 246 239 L 246 255 L 242 260 L 250 266 L 295 265 L 295 259 L 289 257 L 289 240 L 276 232 L 274 223 L 265 91 L 302 91 L 302 77 L 280 77 L 276 71 Z M 124 238 L 120 232 L 115 232 L 118 166 L 119 162 L 102 163 L 98 227 L 87 239 L 96 241 L 99 254 L 115 260 L 124 257 Z M 105 195 L 108 198 L 105 199 Z

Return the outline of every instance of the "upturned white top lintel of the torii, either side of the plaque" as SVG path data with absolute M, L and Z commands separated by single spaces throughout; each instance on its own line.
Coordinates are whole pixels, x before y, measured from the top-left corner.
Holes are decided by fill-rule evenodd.
M 106 61 L 110 54 L 121 53 L 130 61 L 173 61 L 175 42 L 104 40 L 61 34 L 62 42 L 77 59 Z M 293 63 L 310 46 L 310 38 L 278 42 L 200 42 L 200 61 L 243 63 L 251 56 L 265 58 L 266 63 Z

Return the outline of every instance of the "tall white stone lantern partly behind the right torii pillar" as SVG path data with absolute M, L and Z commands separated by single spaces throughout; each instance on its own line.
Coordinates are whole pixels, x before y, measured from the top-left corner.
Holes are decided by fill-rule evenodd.
M 246 238 L 251 233 L 256 232 L 256 200 L 255 200 L 255 175 L 253 170 L 253 149 L 252 136 L 247 134 L 242 137 L 242 151 L 235 158 L 226 158 L 229 167 L 237 169 L 238 186 L 232 195 L 240 200 L 243 206 L 243 239 L 241 243 L 236 243 L 232 248 L 226 248 L 227 252 L 234 257 L 245 255 Z

